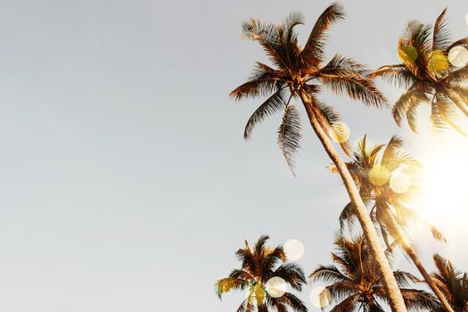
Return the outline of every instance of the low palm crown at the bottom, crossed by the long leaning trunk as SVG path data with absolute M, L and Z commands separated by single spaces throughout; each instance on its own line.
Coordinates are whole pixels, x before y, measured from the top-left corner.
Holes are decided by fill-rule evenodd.
M 320 265 L 309 275 L 312 282 L 327 283 L 319 294 L 321 303 L 337 303 L 331 312 L 384 311 L 381 302 L 389 302 L 390 299 L 364 237 L 358 235 L 346 239 L 339 235 L 335 246 L 336 252 L 332 252 L 334 264 Z M 402 271 L 393 274 L 408 309 L 418 311 L 439 307 L 430 293 L 407 288 L 411 283 L 418 282 L 414 275 Z

